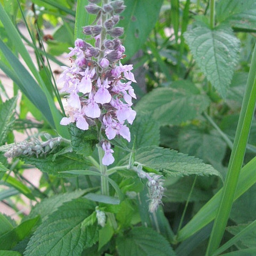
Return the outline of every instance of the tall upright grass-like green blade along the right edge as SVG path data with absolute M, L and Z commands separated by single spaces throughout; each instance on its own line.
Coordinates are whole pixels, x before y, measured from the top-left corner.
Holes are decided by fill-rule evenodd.
M 245 149 L 253 119 L 256 103 L 256 45 L 253 50 L 253 57 L 250 72 L 242 102 L 238 126 L 236 129 L 233 150 L 227 170 L 220 206 L 216 215 L 212 233 L 209 239 L 206 256 L 212 255 L 221 242 L 225 227 L 230 215 L 236 186 L 239 180 L 241 166 L 244 160 Z

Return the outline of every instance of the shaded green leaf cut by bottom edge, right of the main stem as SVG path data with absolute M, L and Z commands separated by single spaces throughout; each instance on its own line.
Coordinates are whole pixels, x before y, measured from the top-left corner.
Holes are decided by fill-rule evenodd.
M 134 227 L 116 241 L 119 256 L 175 256 L 166 239 L 155 230 Z

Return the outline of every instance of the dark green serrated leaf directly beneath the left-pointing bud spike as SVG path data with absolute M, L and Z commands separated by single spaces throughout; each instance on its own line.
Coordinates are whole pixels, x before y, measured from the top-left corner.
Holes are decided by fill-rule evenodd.
M 49 154 L 45 158 L 37 157 L 21 157 L 25 163 L 35 165 L 42 172 L 47 172 L 50 175 L 58 177 L 70 176 L 65 171 L 73 169 L 89 169 L 91 163 L 86 160 L 83 156 L 76 154 L 75 152 L 66 153 L 63 155 Z

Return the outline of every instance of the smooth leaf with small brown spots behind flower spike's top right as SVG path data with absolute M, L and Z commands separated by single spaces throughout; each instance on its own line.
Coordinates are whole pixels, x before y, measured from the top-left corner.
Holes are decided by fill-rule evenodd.
M 118 26 L 124 28 L 125 54 L 131 58 L 145 43 L 154 28 L 163 0 L 125 0 L 126 9 Z

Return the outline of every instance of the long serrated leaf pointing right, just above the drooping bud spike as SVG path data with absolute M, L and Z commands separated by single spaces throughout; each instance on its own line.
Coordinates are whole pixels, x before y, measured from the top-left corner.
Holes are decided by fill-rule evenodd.
M 123 161 L 128 162 L 129 156 Z M 212 166 L 202 163 L 202 160 L 179 153 L 169 148 L 149 146 L 135 152 L 135 161 L 145 169 L 161 172 L 169 177 L 185 175 L 217 175 L 220 173 Z

